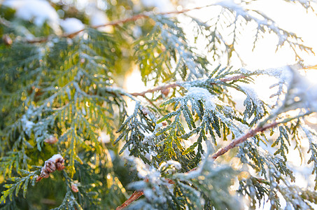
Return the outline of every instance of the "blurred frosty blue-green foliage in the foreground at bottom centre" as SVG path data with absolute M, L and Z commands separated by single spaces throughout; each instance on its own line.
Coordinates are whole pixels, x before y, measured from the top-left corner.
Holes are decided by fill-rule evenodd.
M 183 174 L 177 173 L 181 165 L 175 161 L 163 162 L 157 170 L 148 169 L 141 160 L 134 161 L 139 176 L 148 178 L 148 182 L 130 185 L 142 190 L 145 197 L 128 209 L 241 209 L 237 197 L 229 193 L 232 178 L 237 174 L 231 167 L 216 167 L 213 160 L 206 157 L 195 171 Z M 174 189 L 168 180 L 175 182 Z

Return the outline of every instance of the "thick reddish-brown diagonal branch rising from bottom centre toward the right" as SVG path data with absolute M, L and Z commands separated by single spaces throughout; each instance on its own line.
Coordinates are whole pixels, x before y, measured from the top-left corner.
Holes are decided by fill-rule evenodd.
M 255 129 L 250 130 L 249 132 L 247 132 L 243 136 L 239 137 L 238 139 L 234 139 L 229 145 L 225 146 L 224 148 L 221 148 L 219 151 L 214 153 L 211 156 L 211 158 L 213 158 L 213 160 L 216 160 L 216 158 L 218 158 L 219 156 L 227 153 L 227 151 L 230 151 L 230 149 L 238 146 L 238 144 L 243 143 L 244 141 L 246 141 L 246 139 L 248 139 L 250 137 L 254 137 L 256 134 L 258 134 L 258 132 L 264 132 L 265 130 L 268 130 L 270 128 L 276 127 L 276 125 L 279 125 L 280 123 L 283 123 L 283 122 L 274 121 L 274 123 L 271 123 L 271 124 L 268 124 L 268 125 L 265 125 L 265 126 L 255 127 Z M 196 169 L 197 168 L 191 169 L 189 172 L 195 171 Z M 189 172 L 187 172 L 187 173 L 189 173 Z M 168 181 L 169 181 L 169 183 L 174 184 L 174 181 L 172 181 L 170 179 Z M 141 195 L 143 195 L 142 191 L 134 191 L 134 193 L 131 195 L 131 197 L 129 197 L 129 199 L 127 201 L 125 201 L 116 210 L 124 209 L 125 207 L 129 206 L 129 204 L 134 202 L 134 200 L 139 199 L 139 197 L 141 197 Z

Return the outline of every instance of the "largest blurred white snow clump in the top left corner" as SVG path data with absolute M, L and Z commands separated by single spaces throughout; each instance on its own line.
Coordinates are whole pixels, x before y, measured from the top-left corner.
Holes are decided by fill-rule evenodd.
M 3 5 L 16 10 L 15 15 L 23 20 L 33 21 L 41 26 L 47 20 L 55 31 L 59 30 L 59 16 L 48 1 L 41 0 L 6 0 Z

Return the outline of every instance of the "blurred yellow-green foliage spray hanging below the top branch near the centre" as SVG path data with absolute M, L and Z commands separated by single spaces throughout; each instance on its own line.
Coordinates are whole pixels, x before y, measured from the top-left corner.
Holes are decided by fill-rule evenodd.
M 155 21 L 152 31 L 134 47 L 143 82 L 154 80 L 157 85 L 175 81 L 178 76 L 182 80 L 205 76 L 208 61 L 190 47 L 178 20 L 161 15 L 150 18 Z

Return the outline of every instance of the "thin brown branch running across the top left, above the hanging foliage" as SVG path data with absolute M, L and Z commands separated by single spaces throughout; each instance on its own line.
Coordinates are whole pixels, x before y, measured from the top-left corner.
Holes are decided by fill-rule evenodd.
M 111 21 L 111 22 L 108 22 L 108 23 L 103 24 L 103 25 L 96 25 L 96 26 L 90 26 L 90 27 L 92 27 L 93 29 L 98 29 L 100 27 L 117 26 L 117 25 L 123 24 L 125 22 L 131 22 L 131 21 L 138 20 L 140 18 L 150 18 L 150 15 L 173 15 L 173 14 L 177 15 L 177 14 L 189 12 L 191 10 L 199 10 L 201 8 L 206 8 L 206 7 L 209 7 L 209 6 L 213 6 L 213 4 L 206 5 L 206 6 L 198 6 L 198 7 L 195 7 L 195 8 L 188 8 L 188 9 L 183 9 L 183 10 L 175 10 L 175 11 L 165 12 L 165 13 L 146 12 L 146 13 L 141 13 L 141 14 L 138 14 L 138 15 L 134 15 L 134 16 L 132 16 L 130 18 L 125 18 L 125 19 L 122 19 L 122 20 L 115 20 L 115 21 Z M 73 38 L 74 36 L 76 36 L 77 34 L 79 34 L 80 32 L 82 32 L 84 30 L 85 29 L 81 29 L 81 30 L 75 31 L 75 32 L 73 32 L 71 34 L 62 34 L 60 37 Z M 31 39 L 31 40 L 27 40 L 27 42 L 28 43 L 43 43 L 45 41 L 50 40 L 50 38 L 52 38 L 52 36 L 47 36 L 47 37 L 42 37 L 42 38 L 34 38 L 34 39 Z

